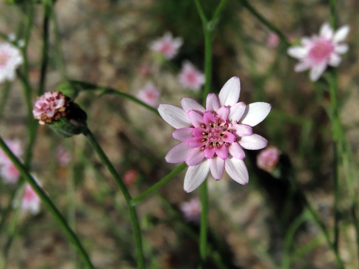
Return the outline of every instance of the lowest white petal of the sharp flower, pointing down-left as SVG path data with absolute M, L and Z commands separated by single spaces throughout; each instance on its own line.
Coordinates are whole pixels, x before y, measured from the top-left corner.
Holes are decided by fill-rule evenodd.
M 209 159 L 203 159 L 199 164 L 188 167 L 183 183 L 185 192 L 192 192 L 202 184 L 208 175 L 209 166 Z

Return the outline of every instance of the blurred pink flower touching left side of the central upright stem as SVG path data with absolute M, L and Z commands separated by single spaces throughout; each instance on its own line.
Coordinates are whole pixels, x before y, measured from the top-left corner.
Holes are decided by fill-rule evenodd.
M 185 61 L 178 76 L 184 88 L 199 90 L 205 82 L 205 76 L 191 62 Z

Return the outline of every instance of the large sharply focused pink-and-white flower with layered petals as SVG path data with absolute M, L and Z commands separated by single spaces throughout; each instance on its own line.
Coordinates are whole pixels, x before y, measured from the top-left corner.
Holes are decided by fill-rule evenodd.
M 253 134 L 252 127 L 263 121 L 271 105 L 237 103 L 241 87 L 238 77 L 229 79 L 219 92 L 206 99 L 206 108 L 191 98 L 182 98 L 182 108 L 161 104 L 158 112 L 172 127 L 172 137 L 181 141 L 165 156 L 170 163 L 186 162 L 184 189 L 192 192 L 206 179 L 209 171 L 220 180 L 223 171 L 240 184 L 248 183 L 243 148 L 259 150 L 267 140 Z

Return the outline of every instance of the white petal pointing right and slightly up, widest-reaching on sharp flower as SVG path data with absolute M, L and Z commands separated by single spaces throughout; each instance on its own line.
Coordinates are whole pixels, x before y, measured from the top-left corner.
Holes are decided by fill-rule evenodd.
M 246 105 L 243 117 L 238 123 L 247 124 L 251 127 L 256 126 L 267 117 L 271 108 L 271 104 L 265 102 L 256 102 Z

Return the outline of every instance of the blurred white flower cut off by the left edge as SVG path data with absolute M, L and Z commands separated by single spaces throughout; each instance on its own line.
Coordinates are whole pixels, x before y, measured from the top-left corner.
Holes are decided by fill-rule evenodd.
M 0 83 L 15 78 L 16 69 L 23 63 L 20 50 L 10 43 L 0 44 Z

